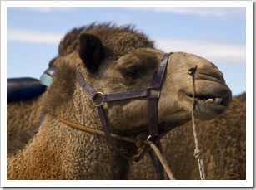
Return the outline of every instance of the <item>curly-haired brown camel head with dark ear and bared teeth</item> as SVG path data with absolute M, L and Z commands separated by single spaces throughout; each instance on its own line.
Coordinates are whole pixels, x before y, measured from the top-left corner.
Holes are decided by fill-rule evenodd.
M 93 100 L 75 78 L 76 71 L 103 95 L 144 90 L 153 85 L 164 56 L 148 37 L 130 27 L 91 26 L 65 47 L 66 38 L 59 47 L 60 55 L 54 59 L 62 64 L 57 64 L 59 70 L 50 89 L 48 108 L 53 114 L 65 112 L 66 118 L 80 124 L 90 120 L 97 120 L 98 125 L 100 122 Z M 168 57 L 159 92 L 150 92 L 159 95 L 160 130 L 172 129 L 191 119 L 193 80 L 188 71 L 195 66 L 195 117 L 214 119 L 229 105 L 232 93 L 217 66 L 200 56 L 173 52 Z M 110 131 L 116 134 L 148 130 L 148 97 L 104 102 L 103 111 Z

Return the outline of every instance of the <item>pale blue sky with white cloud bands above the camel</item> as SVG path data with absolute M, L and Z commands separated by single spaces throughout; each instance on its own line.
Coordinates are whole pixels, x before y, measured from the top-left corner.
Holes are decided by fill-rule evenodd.
M 246 7 L 162 5 L 8 7 L 7 77 L 39 78 L 57 56 L 58 42 L 66 32 L 92 22 L 113 22 L 118 26 L 135 25 L 163 51 L 186 51 L 207 58 L 223 71 L 233 95 L 244 92 Z

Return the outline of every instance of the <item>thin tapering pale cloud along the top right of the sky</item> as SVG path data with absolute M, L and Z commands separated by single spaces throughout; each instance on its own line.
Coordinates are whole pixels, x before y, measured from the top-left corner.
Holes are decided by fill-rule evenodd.
M 245 7 L 128 7 L 143 11 L 170 12 L 175 14 L 196 15 L 198 17 L 243 17 Z

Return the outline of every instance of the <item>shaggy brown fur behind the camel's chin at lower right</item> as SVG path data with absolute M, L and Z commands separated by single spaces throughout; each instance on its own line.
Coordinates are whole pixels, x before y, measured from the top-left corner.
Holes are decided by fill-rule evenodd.
M 238 99 L 217 119 L 196 120 L 207 179 L 246 179 L 246 109 Z M 171 130 L 162 140 L 163 154 L 176 179 L 200 179 L 191 122 Z M 132 163 L 128 179 L 157 179 L 147 156 Z M 166 177 L 167 178 L 167 177 Z M 167 178 L 168 179 L 168 178 Z

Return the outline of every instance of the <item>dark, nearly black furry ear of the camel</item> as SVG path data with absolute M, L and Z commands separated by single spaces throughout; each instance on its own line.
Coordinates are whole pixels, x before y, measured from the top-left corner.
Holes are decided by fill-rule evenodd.
M 102 41 L 92 34 L 83 33 L 79 37 L 79 42 L 78 54 L 84 66 L 86 66 L 90 72 L 97 71 L 100 62 L 103 60 Z

